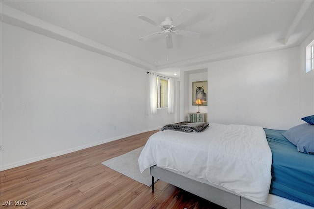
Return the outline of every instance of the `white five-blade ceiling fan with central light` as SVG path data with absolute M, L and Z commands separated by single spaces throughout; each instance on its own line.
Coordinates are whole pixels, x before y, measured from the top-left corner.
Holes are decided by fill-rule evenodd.
M 175 35 L 182 35 L 182 36 L 189 36 L 189 37 L 195 37 L 198 38 L 200 37 L 200 33 L 196 32 L 191 32 L 187 30 L 180 30 L 176 29 L 177 26 L 179 26 L 186 18 L 189 13 L 188 9 L 183 9 L 179 15 L 173 20 L 171 17 L 166 17 L 164 21 L 162 21 L 160 24 L 157 23 L 156 21 L 146 17 L 145 15 L 139 15 L 138 18 L 153 24 L 154 26 L 160 27 L 160 31 L 152 33 L 150 35 L 144 36 L 140 38 L 139 40 L 146 40 L 148 38 L 151 38 L 152 36 L 156 34 L 162 34 L 164 33 L 166 35 L 166 44 L 167 44 L 167 49 L 171 49 L 173 47 L 172 44 L 172 34 Z

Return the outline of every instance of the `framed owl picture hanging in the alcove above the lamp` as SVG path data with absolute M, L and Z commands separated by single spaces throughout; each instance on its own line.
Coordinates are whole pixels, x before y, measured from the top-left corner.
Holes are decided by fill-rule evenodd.
M 196 104 L 200 99 L 202 104 Z M 192 82 L 192 105 L 207 106 L 207 80 Z

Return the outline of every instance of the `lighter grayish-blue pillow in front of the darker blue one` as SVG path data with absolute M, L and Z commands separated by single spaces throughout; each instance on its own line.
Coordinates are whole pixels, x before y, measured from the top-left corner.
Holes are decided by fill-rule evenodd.
M 300 124 L 284 132 L 283 136 L 297 146 L 299 152 L 314 154 L 314 126 Z

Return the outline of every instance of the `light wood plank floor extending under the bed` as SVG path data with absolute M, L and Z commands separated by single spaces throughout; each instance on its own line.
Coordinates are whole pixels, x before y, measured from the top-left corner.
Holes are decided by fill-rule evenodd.
M 144 146 L 155 132 L 149 131 L 2 171 L 1 209 L 220 208 L 160 180 L 155 183 L 155 192 L 152 193 L 151 188 L 144 184 L 101 164 Z M 9 201 L 13 201 L 12 204 Z M 25 201 L 27 206 L 14 206 Z

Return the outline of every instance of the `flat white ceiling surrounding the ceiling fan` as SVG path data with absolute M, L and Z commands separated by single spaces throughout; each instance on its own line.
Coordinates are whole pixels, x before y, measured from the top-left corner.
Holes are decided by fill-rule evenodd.
M 183 66 L 202 57 L 210 60 L 246 51 L 298 46 L 314 29 L 313 1 L 299 21 L 297 18 L 304 4 L 300 0 L 1 0 L 1 3 L 142 60 L 156 69 Z M 146 41 L 138 40 L 159 31 L 157 26 L 139 19 L 138 15 L 160 23 L 166 16 L 175 18 L 184 8 L 190 10 L 190 15 L 178 28 L 201 33 L 200 38 L 173 35 L 172 49 L 166 49 L 164 34 Z

